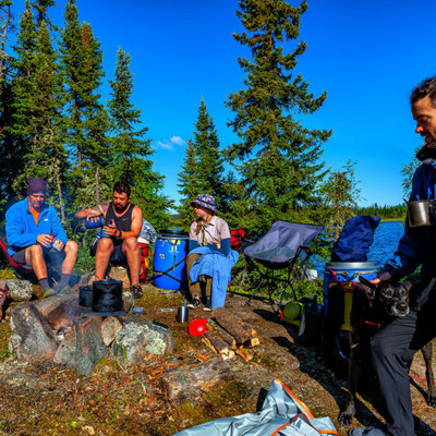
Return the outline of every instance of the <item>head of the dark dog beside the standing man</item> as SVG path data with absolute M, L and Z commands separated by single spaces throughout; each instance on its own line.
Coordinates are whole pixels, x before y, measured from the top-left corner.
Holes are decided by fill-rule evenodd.
M 379 304 L 387 315 L 405 316 L 409 313 L 410 286 L 390 282 L 373 284 L 364 277 L 360 277 L 359 281 L 366 296 Z

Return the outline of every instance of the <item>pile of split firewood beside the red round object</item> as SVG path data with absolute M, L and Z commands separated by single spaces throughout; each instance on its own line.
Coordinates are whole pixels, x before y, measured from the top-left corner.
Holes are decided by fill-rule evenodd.
M 217 307 L 208 319 L 203 342 L 223 360 L 240 355 L 245 362 L 253 358 L 253 347 L 261 343 L 257 331 L 249 324 L 229 313 L 223 307 Z

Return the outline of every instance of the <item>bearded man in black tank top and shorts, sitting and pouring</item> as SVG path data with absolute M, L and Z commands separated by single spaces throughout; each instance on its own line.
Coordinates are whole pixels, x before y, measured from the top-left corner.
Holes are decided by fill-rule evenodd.
M 105 218 L 104 238 L 97 245 L 95 256 L 96 280 L 104 280 L 109 262 L 112 265 L 128 263 L 131 291 L 135 298 L 142 296 L 140 286 L 141 249 L 137 238 L 143 225 L 143 213 L 130 202 L 130 186 L 117 182 L 113 186 L 112 202 L 98 204 L 88 209 L 78 210 L 77 219 Z

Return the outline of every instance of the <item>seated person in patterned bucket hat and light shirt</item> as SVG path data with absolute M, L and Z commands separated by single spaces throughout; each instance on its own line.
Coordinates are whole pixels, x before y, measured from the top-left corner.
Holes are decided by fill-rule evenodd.
M 206 254 L 205 251 L 197 250 L 198 247 L 209 249 L 210 254 L 213 254 L 214 252 L 215 253 L 218 252 L 219 254 L 226 257 L 229 256 L 230 230 L 228 223 L 222 218 L 216 216 L 217 207 L 215 205 L 215 198 L 211 195 L 199 194 L 191 203 L 191 205 L 194 206 L 195 215 L 198 218 L 191 225 L 190 229 L 190 241 L 189 241 L 190 254 L 186 259 L 186 270 L 187 270 L 187 281 L 192 300 L 187 306 L 191 308 L 196 308 L 201 305 L 203 300 L 205 304 L 204 310 L 210 311 L 213 308 L 211 277 L 209 275 L 201 274 L 198 280 L 193 281 L 191 280 L 190 274 L 194 263 L 198 264 L 201 256 L 204 256 Z M 203 299 L 201 299 L 201 296 Z

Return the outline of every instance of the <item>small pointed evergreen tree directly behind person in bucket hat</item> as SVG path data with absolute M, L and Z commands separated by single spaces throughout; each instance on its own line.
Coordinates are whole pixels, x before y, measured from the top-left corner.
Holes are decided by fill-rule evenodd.
M 214 120 L 207 112 L 202 99 L 198 107 L 198 117 L 195 122 L 194 140 L 189 142 L 182 171 L 179 173 L 179 193 L 182 195 L 181 206 L 178 208 L 183 225 L 192 221 L 191 202 L 199 193 L 215 197 L 217 208 L 226 213 L 226 193 L 223 189 L 223 158 L 219 150 L 218 134 Z

